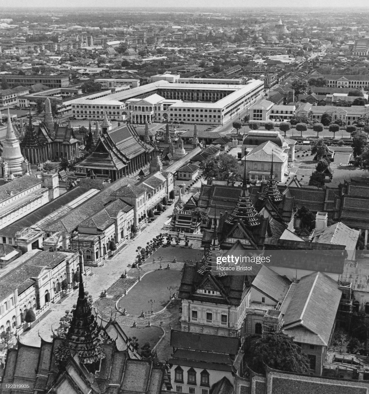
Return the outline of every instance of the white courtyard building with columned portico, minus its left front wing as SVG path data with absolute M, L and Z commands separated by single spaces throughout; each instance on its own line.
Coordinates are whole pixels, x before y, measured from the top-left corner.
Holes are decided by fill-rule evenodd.
M 132 123 L 169 122 L 223 125 L 262 97 L 264 82 L 247 85 L 153 82 L 111 95 L 125 102 Z M 124 114 L 123 114 L 124 115 Z

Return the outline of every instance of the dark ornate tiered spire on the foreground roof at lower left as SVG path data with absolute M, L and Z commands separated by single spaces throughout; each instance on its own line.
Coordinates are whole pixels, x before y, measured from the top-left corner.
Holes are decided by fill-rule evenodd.
M 84 364 L 89 372 L 94 373 L 100 369 L 100 361 L 105 358 L 105 353 L 100 346 L 102 342 L 100 327 L 85 296 L 82 272 L 82 252 L 80 251 L 77 306 L 73 312 L 66 339 L 58 347 L 55 357 L 59 362 L 65 362 L 76 352 L 79 362 Z

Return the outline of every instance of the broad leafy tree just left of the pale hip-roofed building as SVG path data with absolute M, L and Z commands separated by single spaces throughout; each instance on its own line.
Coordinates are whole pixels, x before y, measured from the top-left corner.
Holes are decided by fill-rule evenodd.
M 240 180 L 241 167 L 237 159 L 227 153 L 210 156 L 201 164 L 202 176 L 205 179 Z

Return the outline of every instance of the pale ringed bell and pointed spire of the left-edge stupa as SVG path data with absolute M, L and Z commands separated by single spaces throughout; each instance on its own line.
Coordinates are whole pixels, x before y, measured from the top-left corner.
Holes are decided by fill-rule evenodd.
M 2 144 L 2 159 L 3 162 L 7 162 L 9 172 L 14 175 L 22 174 L 22 163 L 24 162 L 24 157 L 22 156 L 22 152 L 20 151 L 20 144 L 17 136 L 15 135 L 13 124 L 11 123 L 9 108 L 6 136 Z

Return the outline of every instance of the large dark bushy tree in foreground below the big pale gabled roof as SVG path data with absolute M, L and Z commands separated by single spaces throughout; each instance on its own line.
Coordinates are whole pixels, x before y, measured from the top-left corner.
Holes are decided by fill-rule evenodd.
M 245 357 L 247 365 L 256 373 L 265 374 L 266 366 L 299 374 L 308 374 L 308 356 L 288 335 L 270 333 L 254 339 Z

